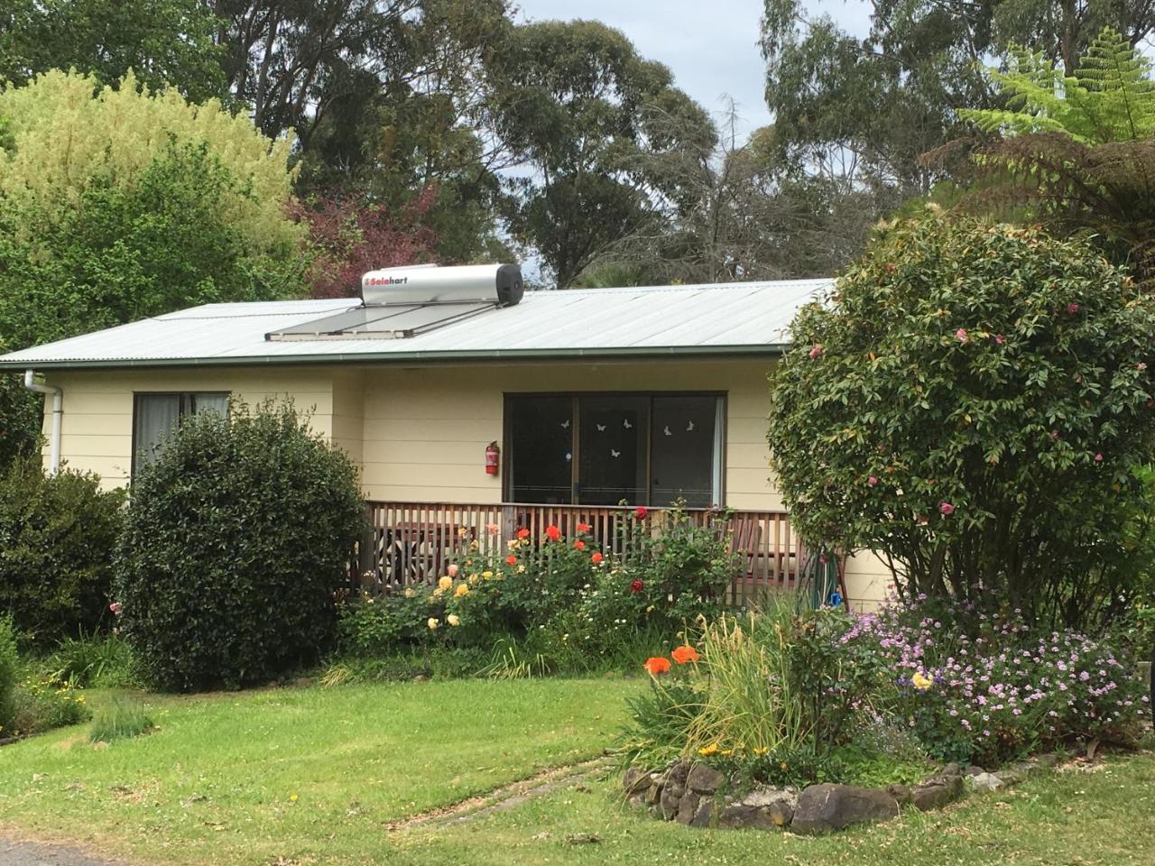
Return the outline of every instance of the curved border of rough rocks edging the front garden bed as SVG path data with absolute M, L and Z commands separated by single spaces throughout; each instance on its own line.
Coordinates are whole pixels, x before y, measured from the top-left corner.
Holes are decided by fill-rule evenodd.
M 942 808 L 968 791 L 998 791 L 1053 769 L 1058 755 L 1044 754 L 1008 764 L 993 772 L 982 767 L 948 763 L 912 786 L 885 789 L 822 783 L 795 787 L 759 786 L 744 794 L 729 794 L 732 779 L 702 761 L 680 759 L 660 770 L 631 767 L 623 778 L 626 799 L 647 807 L 655 818 L 687 827 L 732 829 L 789 829 L 819 834 L 855 824 L 889 821 L 902 806 L 919 812 Z

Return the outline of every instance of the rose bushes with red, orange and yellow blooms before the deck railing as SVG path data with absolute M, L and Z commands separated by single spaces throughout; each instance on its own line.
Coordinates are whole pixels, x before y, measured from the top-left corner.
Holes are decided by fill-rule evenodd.
M 341 648 L 385 655 L 528 636 L 535 655 L 557 662 L 551 666 L 572 667 L 717 613 L 732 577 L 724 535 L 692 525 L 677 509 L 660 528 L 648 521 L 643 508 L 629 513 L 618 539 L 626 555 L 598 550 L 582 523 L 571 536 L 550 525 L 539 538 L 521 529 L 504 546 L 463 542 L 433 587 L 345 604 Z M 489 531 L 495 536 L 498 527 Z

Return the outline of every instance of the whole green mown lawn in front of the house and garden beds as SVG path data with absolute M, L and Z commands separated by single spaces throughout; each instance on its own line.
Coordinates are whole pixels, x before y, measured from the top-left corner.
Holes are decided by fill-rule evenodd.
M 1152 753 L 828 838 L 661 823 L 617 799 L 616 772 L 464 823 L 387 827 L 598 754 L 642 687 L 464 680 L 150 697 L 161 729 L 148 737 L 95 749 L 73 729 L 0 749 L 0 826 L 201 865 L 1155 863 L 1142 830 L 1155 827 Z

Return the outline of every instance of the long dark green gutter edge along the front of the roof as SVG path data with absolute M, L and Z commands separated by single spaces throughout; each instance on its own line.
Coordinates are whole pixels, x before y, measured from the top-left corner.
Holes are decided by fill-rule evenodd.
M 106 358 L 32 360 L 0 358 L 0 371 L 96 369 L 110 367 L 218 367 L 316 364 L 413 364 L 500 360 L 598 360 L 614 358 L 775 356 L 789 343 L 718 346 L 620 346 L 614 349 L 492 349 L 486 351 L 340 352 L 331 354 L 264 354 L 207 358 Z

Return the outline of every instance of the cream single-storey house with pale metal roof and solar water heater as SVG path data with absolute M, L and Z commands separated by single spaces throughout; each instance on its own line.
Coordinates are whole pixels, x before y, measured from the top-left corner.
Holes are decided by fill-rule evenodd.
M 511 266 L 365 275 L 360 299 L 209 304 L 0 357 L 45 394 L 45 463 L 125 485 L 182 417 L 291 397 L 360 468 L 386 583 L 453 535 L 619 503 L 733 509 L 752 587 L 802 559 L 770 477 L 767 374 L 826 279 L 522 292 Z M 432 574 L 435 578 L 435 574 Z M 849 600 L 880 599 L 873 555 Z

